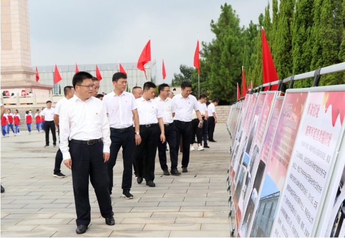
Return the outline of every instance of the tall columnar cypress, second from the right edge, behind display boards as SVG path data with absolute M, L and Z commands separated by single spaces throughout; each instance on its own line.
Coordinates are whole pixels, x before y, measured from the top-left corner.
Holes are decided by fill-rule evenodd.
M 311 29 L 314 22 L 314 0 L 298 0 L 293 21 L 292 60 L 293 74 L 302 74 L 310 70 L 312 59 Z M 299 80 L 294 88 L 310 87 L 312 79 Z

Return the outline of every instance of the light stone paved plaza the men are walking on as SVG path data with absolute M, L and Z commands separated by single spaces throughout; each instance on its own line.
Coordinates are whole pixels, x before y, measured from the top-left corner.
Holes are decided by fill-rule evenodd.
M 210 149 L 191 152 L 188 173 L 181 176 L 163 176 L 157 155 L 156 187 L 146 186 L 145 181 L 137 184 L 133 176 L 133 199 L 121 198 L 120 151 L 111 195 L 116 225 L 105 224 L 90 184 L 91 224 L 80 235 L 75 233 L 71 171 L 62 164 L 62 173 L 68 176 L 52 176 L 57 151 L 52 141 L 44 148 L 44 133 L 36 131 L 2 138 L 1 183 L 6 192 L 1 193 L 1 236 L 229 237 L 226 172 L 230 141 L 225 124 L 216 125 L 214 138 L 217 143 L 209 143 Z M 180 153 L 180 172 L 181 158 Z

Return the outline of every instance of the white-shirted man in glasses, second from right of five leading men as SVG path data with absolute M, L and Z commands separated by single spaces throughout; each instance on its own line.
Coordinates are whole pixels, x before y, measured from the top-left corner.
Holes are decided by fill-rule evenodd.
M 171 98 L 168 97 L 170 88 L 169 85 L 163 83 L 158 86 L 159 96 L 155 99 L 156 103 L 163 112 L 163 123 L 164 123 L 164 135 L 165 143 L 158 143 L 158 157 L 160 167 L 162 168 L 163 175 L 170 175 L 168 166 L 166 165 L 166 142 L 170 148 L 170 173 L 171 175 L 181 175 L 177 170 L 177 154 L 176 154 L 176 130 L 174 125 L 175 116 L 175 104 Z

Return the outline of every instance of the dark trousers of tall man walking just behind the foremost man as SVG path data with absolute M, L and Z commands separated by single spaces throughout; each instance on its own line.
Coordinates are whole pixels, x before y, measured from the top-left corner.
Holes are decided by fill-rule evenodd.
M 110 158 L 107 161 L 107 171 L 109 176 L 109 191 L 113 186 L 113 167 L 116 164 L 119 150 L 122 146 L 123 175 L 122 189 L 131 190 L 132 187 L 132 164 L 135 148 L 134 130 L 117 132 L 110 130 Z

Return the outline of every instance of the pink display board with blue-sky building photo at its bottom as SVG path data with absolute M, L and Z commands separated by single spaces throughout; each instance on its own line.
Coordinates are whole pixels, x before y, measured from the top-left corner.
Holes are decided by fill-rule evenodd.
M 262 192 L 258 195 L 260 200 L 252 221 L 251 237 L 258 237 L 258 234 L 262 233 L 265 234 L 264 237 L 270 236 L 307 95 L 307 92 L 286 92 L 285 94 L 271 153 L 266 165 Z M 266 196 L 263 196 L 263 193 Z M 265 215 L 260 212 L 260 203 L 269 203 L 271 206 L 269 210 L 273 212 L 269 213 L 269 217 L 266 216 L 267 218 L 265 218 Z M 265 219 L 267 224 L 262 223 Z

